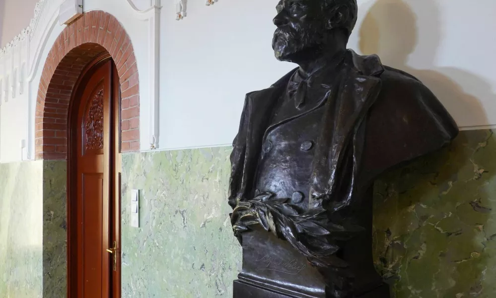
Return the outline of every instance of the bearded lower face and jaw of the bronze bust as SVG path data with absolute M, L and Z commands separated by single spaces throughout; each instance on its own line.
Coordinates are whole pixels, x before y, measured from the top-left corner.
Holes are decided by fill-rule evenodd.
M 314 28 L 294 29 L 290 26 L 278 27 L 274 32 L 272 49 L 280 61 L 292 62 L 293 56 L 298 53 L 322 44 L 324 30 Z

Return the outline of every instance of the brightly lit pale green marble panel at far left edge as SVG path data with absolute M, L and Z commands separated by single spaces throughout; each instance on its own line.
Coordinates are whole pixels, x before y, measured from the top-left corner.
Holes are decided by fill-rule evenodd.
M 42 161 L 0 164 L 0 297 L 42 297 Z

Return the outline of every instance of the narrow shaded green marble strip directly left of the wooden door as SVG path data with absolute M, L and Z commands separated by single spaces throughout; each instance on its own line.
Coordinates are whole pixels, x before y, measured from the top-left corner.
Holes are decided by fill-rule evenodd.
M 43 297 L 67 293 L 67 162 L 43 162 Z

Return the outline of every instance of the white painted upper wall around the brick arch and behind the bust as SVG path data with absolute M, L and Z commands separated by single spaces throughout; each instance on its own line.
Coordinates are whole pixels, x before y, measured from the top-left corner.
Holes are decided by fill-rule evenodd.
M 1 0 L 0 0 L 1 1 Z M 7 0 L 15 1 L 15 0 Z M 135 0 L 143 9 L 147 0 Z M 160 32 L 159 149 L 228 145 L 234 137 L 245 93 L 268 87 L 293 65 L 276 61 L 272 18 L 278 0 L 188 0 L 188 15 L 175 20 L 174 1 L 162 0 Z M 462 129 L 496 126 L 496 1 L 358 0 L 359 20 L 349 47 L 377 53 L 387 65 L 418 76 L 439 97 Z M 151 136 L 148 23 L 127 0 L 85 0 L 84 10 L 114 14 L 131 36 L 141 85 L 142 149 Z M 26 24 L 27 25 L 27 22 Z M 59 28 L 60 27 L 60 28 Z M 43 48 L 48 54 L 62 26 Z M 42 55 L 42 56 L 43 56 Z M 44 58 L 25 103 L 0 107 L 0 160 L 18 160 L 21 138 L 33 109 Z M 28 104 L 28 101 L 30 104 Z M 31 119 L 34 121 L 34 118 Z M 25 131 L 25 129 L 22 129 Z M 29 129 L 28 129 L 29 131 Z M 31 142 L 32 143 L 32 142 Z

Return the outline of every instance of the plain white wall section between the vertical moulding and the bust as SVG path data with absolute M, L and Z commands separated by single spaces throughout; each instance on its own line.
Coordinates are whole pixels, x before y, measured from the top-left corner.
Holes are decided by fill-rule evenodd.
M 272 51 L 277 0 L 189 0 L 176 21 L 161 20 L 160 148 L 232 143 L 244 95 L 269 87 L 295 66 Z

